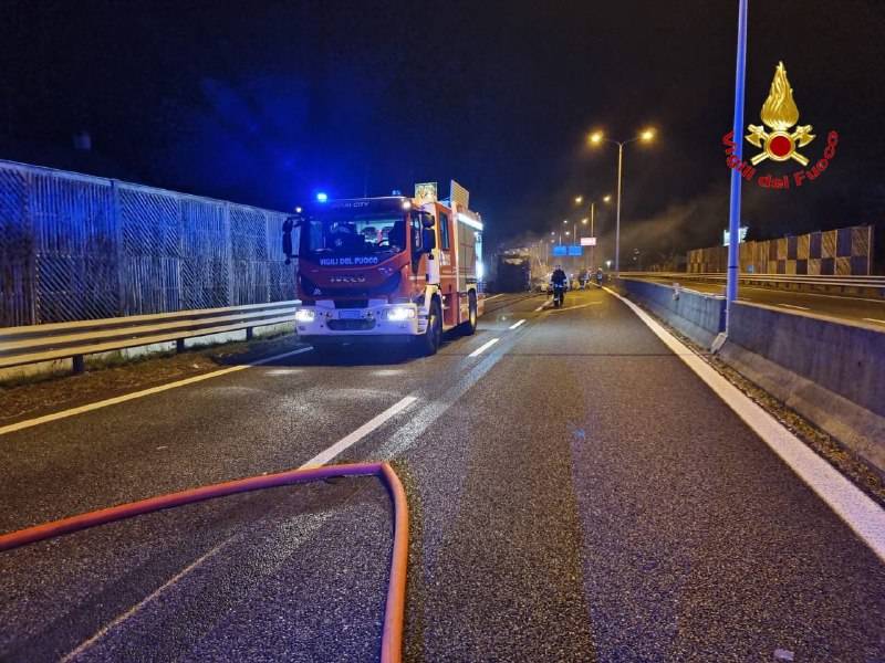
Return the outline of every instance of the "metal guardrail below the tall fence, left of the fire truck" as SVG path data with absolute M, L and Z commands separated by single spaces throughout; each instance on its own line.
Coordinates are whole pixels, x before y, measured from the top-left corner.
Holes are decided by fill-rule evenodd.
M 294 313 L 295 302 L 288 301 L 6 327 L 0 328 L 0 368 L 72 357 L 74 372 L 81 372 L 85 355 L 173 340 L 180 352 L 186 338 L 240 329 L 246 329 L 246 337 L 250 339 L 254 327 L 293 322 Z

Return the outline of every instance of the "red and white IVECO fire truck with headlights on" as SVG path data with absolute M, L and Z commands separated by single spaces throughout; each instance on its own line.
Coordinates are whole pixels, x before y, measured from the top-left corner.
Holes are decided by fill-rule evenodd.
M 291 217 L 283 233 L 287 256 L 298 256 L 298 333 L 317 350 L 387 341 L 433 355 L 444 332 L 476 330 L 482 221 L 466 204 L 326 200 Z

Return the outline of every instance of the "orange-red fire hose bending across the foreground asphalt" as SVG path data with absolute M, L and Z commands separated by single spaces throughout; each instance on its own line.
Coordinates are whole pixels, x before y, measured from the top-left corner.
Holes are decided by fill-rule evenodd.
M 387 463 L 353 463 L 329 467 L 289 470 L 278 474 L 250 476 L 210 486 L 201 486 L 139 502 L 131 502 L 61 520 L 35 525 L 0 535 L 0 551 L 42 541 L 64 534 L 114 523 L 165 508 L 194 504 L 237 493 L 261 491 L 292 484 L 308 483 L 331 476 L 379 476 L 391 492 L 394 504 L 394 550 L 391 560 L 391 579 L 384 608 L 384 628 L 381 638 L 382 663 L 399 663 L 403 659 L 403 624 L 406 602 L 406 566 L 408 564 L 408 504 L 399 477 Z

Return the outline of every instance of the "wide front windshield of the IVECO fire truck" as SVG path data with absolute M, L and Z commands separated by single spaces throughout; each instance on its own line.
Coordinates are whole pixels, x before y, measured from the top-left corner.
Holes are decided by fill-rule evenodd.
M 301 230 L 301 254 L 320 264 L 374 264 L 406 248 L 406 219 L 398 214 L 320 217 Z

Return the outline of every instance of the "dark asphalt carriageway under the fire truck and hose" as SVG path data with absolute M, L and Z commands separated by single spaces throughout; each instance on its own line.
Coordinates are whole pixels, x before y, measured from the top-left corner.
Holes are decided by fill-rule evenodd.
M 2 435 L 0 530 L 295 467 L 414 397 L 334 461 L 406 484 L 407 660 L 885 661 L 875 555 L 626 306 L 542 302 Z M 391 516 L 334 480 L 2 554 L 0 660 L 374 660 Z

